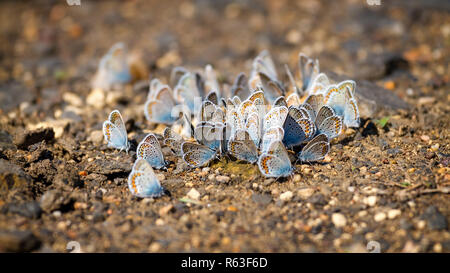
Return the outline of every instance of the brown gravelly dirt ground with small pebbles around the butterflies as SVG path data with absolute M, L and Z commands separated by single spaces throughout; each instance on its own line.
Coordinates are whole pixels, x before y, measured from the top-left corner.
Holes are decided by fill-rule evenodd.
M 450 252 L 450 4 L 368 2 L 2 1 L 0 251 Z M 284 75 L 304 52 L 408 106 L 379 98 L 329 162 L 288 179 L 225 158 L 189 170 L 163 148 L 167 194 L 139 199 L 127 187 L 135 152 L 107 148 L 101 126 L 117 108 L 134 145 L 160 133 L 142 111 L 147 88 L 90 98 L 119 41 L 141 80 L 212 64 L 231 84 L 263 49 Z M 199 200 L 186 202 L 192 189 Z

